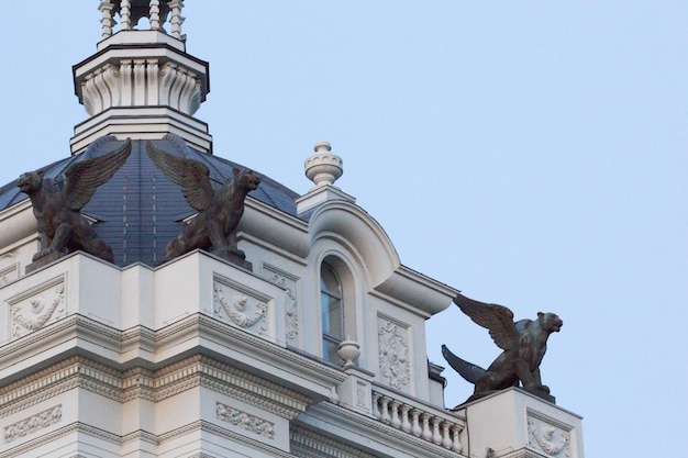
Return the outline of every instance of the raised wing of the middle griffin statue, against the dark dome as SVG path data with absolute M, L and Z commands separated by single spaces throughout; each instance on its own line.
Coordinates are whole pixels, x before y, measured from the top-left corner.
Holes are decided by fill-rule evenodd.
M 177 157 L 146 143 L 148 157 L 175 185 L 181 187 L 185 199 L 199 212 L 210 206 L 214 193 L 210 183 L 210 170 L 198 160 Z

